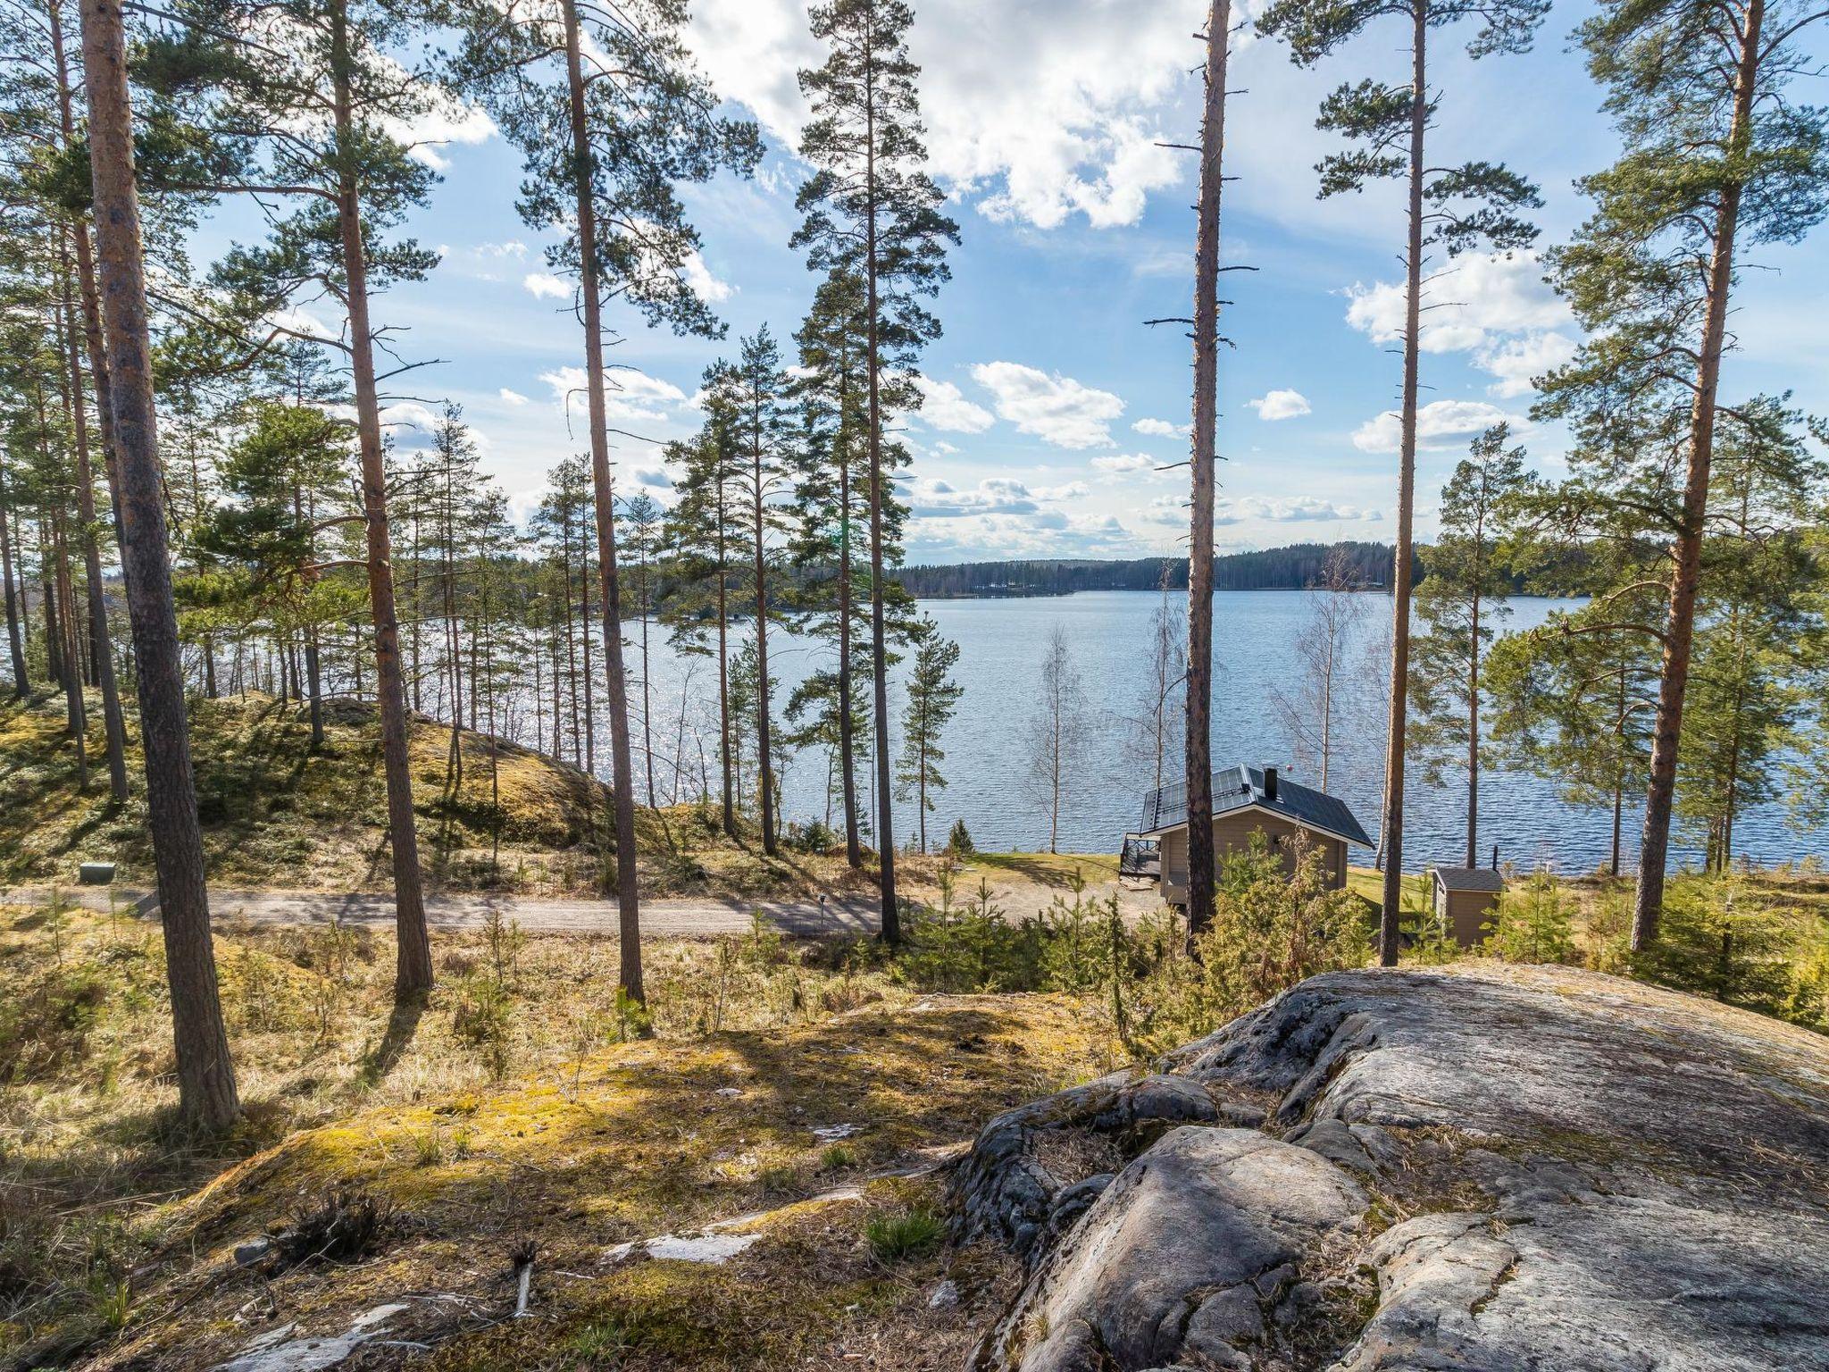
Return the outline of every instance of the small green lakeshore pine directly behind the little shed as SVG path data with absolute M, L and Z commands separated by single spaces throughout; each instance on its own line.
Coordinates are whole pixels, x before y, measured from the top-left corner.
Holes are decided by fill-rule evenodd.
M 1428 552 L 1428 576 L 1416 596 L 1427 626 L 1410 664 L 1416 732 L 1414 748 L 1425 759 L 1430 785 L 1441 783 L 1443 765 L 1467 768 L 1467 856 L 1480 865 L 1480 668 L 1494 627 L 1511 615 L 1511 589 L 1500 551 L 1509 505 L 1524 492 L 1524 448 L 1507 448 L 1507 424 L 1494 424 L 1472 441 L 1441 488 L 1441 534 Z

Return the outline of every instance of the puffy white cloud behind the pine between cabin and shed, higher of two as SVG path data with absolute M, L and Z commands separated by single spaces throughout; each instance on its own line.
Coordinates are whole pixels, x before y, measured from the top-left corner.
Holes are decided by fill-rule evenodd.
M 1403 338 L 1403 282 L 1346 287 L 1346 322 L 1372 342 Z M 1472 353 L 1491 371 L 1500 399 L 1524 395 L 1531 377 L 1575 355 L 1575 320 L 1544 282 L 1535 252 L 1474 254 L 1438 273 L 1423 287 L 1425 353 Z

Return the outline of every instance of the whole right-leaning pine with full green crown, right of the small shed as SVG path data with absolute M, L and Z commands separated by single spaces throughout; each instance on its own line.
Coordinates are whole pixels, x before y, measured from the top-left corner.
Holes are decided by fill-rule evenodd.
M 1635 951 L 1657 940 L 1664 898 L 1714 445 L 1739 423 L 1719 402 L 1734 284 L 1750 249 L 1794 243 L 1829 210 L 1829 113 L 1789 93 L 1814 71 L 1798 40 L 1822 18 L 1798 0 L 1606 0 L 1578 29 L 1622 154 L 1580 181 L 1595 210 L 1551 256 L 1589 338 L 1540 412 L 1573 421 L 1577 476 L 1644 507 L 1670 547 Z

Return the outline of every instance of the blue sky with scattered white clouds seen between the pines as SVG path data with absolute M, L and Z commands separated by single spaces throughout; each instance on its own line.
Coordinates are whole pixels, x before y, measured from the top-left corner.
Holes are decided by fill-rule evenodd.
M 946 335 L 924 359 L 929 402 L 909 421 L 916 520 L 911 562 L 999 556 L 1147 556 L 1185 547 L 1189 342 L 1178 327 L 1193 289 L 1193 157 L 1152 146 L 1196 134 L 1203 7 L 1187 0 L 914 0 L 911 46 L 933 170 L 962 230 L 936 313 Z M 797 66 L 819 53 L 799 0 L 699 0 L 691 44 L 719 93 L 763 124 L 768 155 L 754 181 L 691 188 L 704 234 L 702 282 L 730 337 L 653 333 L 616 320 L 622 428 L 690 432 L 701 370 L 739 335 L 768 324 L 786 340 L 812 289 L 786 245 L 792 155 L 803 115 Z M 1441 31 L 1430 84 L 1441 110 L 1432 163 L 1505 161 L 1542 185 L 1544 238 L 1582 216 L 1571 181 L 1613 150 L 1599 91 L 1567 37 L 1582 5 L 1556 5 L 1525 57 L 1472 62 Z M 1319 97 L 1341 80 L 1403 80 L 1407 29 L 1386 22 L 1313 71 L 1278 44 L 1242 37 L 1229 86 L 1224 256 L 1231 273 L 1220 371 L 1222 549 L 1299 540 L 1390 538 L 1396 490 L 1401 316 L 1396 188 L 1317 203 L 1313 163 L 1333 145 L 1313 128 Z M 1805 99 L 1822 99 L 1811 91 Z M 518 159 L 488 121 L 461 119 L 428 155 L 444 181 L 412 232 L 444 249 L 424 284 L 377 307 L 406 329 L 404 357 L 443 359 L 413 373 L 424 401 L 465 406 L 487 465 L 525 512 L 543 474 L 578 452 L 560 393 L 582 355 L 571 291 L 547 276 L 547 238 L 514 214 Z M 1796 391 L 1829 410 L 1822 318 L 1829 260 L 1818 236 L 1763 249 L 1734 327 L 1732 393 Z M 1434 263 L 1438 269 L 1449 263 Z M 1524 419 L 1529 375 L 1560 360 L 1577 329 L 1529 258 L 1463 258 L 1432 285 L 1425 331 L 1425 448 L 1419 532 L 1467 439 L 1498 417 L 1547 472 L 1562 437 Z M 395 406 L 397 441 L 417 441 L 421 406 Z M 576 415 L 574 415 L 576 419 Z M 666 498 L 655 448 L 618 441 L 624 490 Z

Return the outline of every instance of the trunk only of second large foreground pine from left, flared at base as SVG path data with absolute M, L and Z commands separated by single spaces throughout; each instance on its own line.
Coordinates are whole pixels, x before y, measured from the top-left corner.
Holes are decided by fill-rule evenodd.
M 349 97 L 349 15 L 342 0 L 331 18 L 337 143 L 355 137 Z M 406 734 L 406 682 L 401 673 L 401 624 L 393 604 L 393 547 L 388 536 L 388 472 L 382 463 L 380 401 L 375 393 L 375 340 L 368 320 L 368 260 L 362 251 L 362 201 L 346 165 L 337 185 L 344 289 L 349 311 L 349 370 L 355 381 L 357 437 L 362 452 L 362 512 L 368 525 L 368 604 L 375 620 L 375 699 L 380 713 L 380 759 L 388 779 L 388 840 L 393 849 L 393 927 L 397 1001 L 432 986 L 432 940 L 419 876 L 419 829 L 413 820 L 413 772 Z

